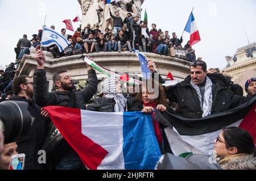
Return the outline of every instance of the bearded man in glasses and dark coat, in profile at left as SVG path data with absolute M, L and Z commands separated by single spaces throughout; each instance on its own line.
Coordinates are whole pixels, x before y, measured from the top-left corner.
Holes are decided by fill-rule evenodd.
M 38 151 L 42 149 L 46 136 L 46 120 L 41 115 L 41 108 L 33 99 L 33 81 L 27 75 L 16 77 L 13 81 L 13 96 L 10 100 L 24 101 L 28 103 L 28 111 L 34 119 L 27 136 L 16 141 L 18 153 L 26 155 L 25 170 L 40 170 L 43 165 L 38 162 Z

